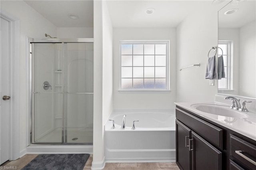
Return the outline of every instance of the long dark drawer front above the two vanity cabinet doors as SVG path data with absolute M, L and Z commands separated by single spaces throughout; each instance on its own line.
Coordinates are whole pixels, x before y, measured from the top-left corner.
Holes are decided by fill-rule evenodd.
M 223 130 L 176 108 L 176 119 L 223 149 Z

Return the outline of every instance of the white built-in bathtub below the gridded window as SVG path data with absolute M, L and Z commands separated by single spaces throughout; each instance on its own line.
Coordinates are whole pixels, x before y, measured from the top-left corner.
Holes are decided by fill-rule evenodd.
M 126 115 L 126 129 L 121 129 Z M 106 162 L 174 162 L 175 112 L 114 112 L 105 125 Z M 135 130 L 132 130 L 132 122 Z

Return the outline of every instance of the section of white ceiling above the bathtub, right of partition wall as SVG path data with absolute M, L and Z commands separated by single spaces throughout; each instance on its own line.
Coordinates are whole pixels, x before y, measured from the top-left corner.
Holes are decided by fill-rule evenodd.
M 113 27 L 177 27 L 191 12 L 212 0 L 108 0 Z M 154 8 L 153 14 L 146 14 Z

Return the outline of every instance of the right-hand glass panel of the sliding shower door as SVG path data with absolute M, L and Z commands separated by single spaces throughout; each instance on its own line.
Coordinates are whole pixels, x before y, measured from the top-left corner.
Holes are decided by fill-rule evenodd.
M 66 44 L 66 143 L 92 143 L 93 43 Z

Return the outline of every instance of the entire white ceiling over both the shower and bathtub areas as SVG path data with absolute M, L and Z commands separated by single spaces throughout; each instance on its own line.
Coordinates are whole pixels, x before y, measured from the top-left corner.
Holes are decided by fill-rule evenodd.
M 192 12 L 213 6 L 224 6 L 222 3 L 224 1 L 106 0 L 114 28 L 173 28 Z M 56 27 L 93 27 L 93 0 L 24 0 L 24 2 Z M 155 12 L 146 14 L 147 8 L 154 8 Z M 71 19 L 68 14 L 77 14 L 79 19 Z

